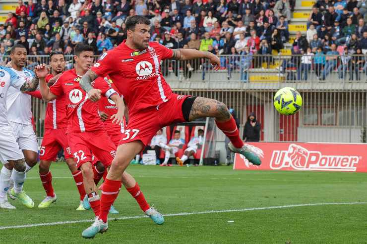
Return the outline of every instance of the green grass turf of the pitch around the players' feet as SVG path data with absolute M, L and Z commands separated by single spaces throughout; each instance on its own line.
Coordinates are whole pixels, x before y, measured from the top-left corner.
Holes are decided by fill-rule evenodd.
M 362 173 L 234 171 L 230 167 L 129 166 L 149 203 L 164 214 L 243 209 L 288 204 L 367 202 Z M 0 209 L 0 226 L 92 219 L 93 212 L 74 210 L 78 193 L 67 167 L 52 165 L 58 201 L 38 209 L 45 196 L 37 169 L 28 174 L 26 192 L 35 201 L 27 209 Z M 142 212 L 124 190 L 115 202 L 120 210 L 110 217 Z M 358 244 L 367 243 L 367 204 L 302 206 L 244 212 L 166 217 L 162 226 L 148 218 L 110 221 L 107 233 L 84 240 L 91 223 L 74 223 L 0 230 L 0 244 L 137 243 L 137 244 Z M 234 221 L 234 223 L 228 223 Z

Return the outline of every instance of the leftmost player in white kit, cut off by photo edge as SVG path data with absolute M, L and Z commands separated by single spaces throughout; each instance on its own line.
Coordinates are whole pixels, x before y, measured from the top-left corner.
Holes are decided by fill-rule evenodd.
M 0 66 L 0 161 L 3 167 L 0 173 L 0 207 L 14 209 L 7 200 L 7 192 L 10 186 L 10 176 L 14 182 L 14 187 L 10 190 L 10 195 L 19 199 L 26 207 L 32 208 L 32 199 L 23 191 L 26 178 L 26 163 L 24 155 L 15 140 L 13 130 L 7 119 L 6 98 L 8 89 L 11 87 L 16 91 L 30 92 L 38 87 L 38 78 L 25 81 L 11 69 Z

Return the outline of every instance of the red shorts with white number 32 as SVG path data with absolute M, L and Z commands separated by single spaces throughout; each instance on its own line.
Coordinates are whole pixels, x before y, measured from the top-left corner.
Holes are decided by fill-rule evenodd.
M 108 167 L 116 155 L 116 146 L 104 130 L 68 133 L 67 140 L 77 168 L 83 163 L 92 163 L 92 154 Z

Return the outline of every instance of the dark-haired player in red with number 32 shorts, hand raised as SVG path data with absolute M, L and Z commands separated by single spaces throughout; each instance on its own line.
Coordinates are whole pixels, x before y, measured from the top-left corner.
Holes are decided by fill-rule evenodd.
M 93 49 L 86 44 L 76 45 L 74 59 L 75 68 L 63 72 L 50 88 L 44 79 L 47 75 L 45 65 L 37 65 L 35 72 L 40 79 L 40 90 L 45 100 L 65 97 L 67 140 L 76 167 L 82 172 L 88 201 L 97 217 L 100 212 L 100 197 L 93 180 L 92 153 L 108 168 L 116 154 L 116 146 L 111 142 L 98 115 L 98 103 L 89 100 L 86 92 L 79 86 L 80 77 L 93 63 Z M 112 119 L 113 122 L 121 124 L 124 111 L 123 100 L 111 87 L 108 79 L 106 77 L 96 79 L 93 87 L 116 103 L 118 112 L 112 116 Z

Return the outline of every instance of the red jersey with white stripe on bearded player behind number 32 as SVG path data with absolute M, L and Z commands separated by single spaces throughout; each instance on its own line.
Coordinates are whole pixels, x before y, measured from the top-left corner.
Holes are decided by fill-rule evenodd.
M 46 76 L 46 82 L 49 82 L 54 75 L 49 74 Z M 41 92 L 39 90 L 28 93 L 29 95 L 42 99 Z M 66 128 L 66 109 L 65 109 L 65 97 L 54 99 L 47 102 L 46 115 L 45 115 L 45 129 L 61 129 Z

